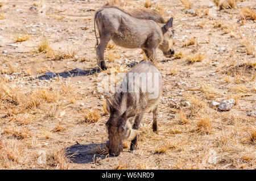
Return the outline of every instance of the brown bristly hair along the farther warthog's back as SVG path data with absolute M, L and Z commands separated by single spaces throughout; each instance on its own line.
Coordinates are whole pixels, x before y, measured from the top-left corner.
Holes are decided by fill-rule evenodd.
M 109 6 L 106 5 L 103 8 L 114 8 L 118 9 L 122 12 L 125 12 L 126 14 L 129 14 L 130 16 L 133 16 L 134 18 L 138 19 L 151 19 L 154 20 L 156 23 L 166 23 L 166 21 L 163 19 L 162 15 L 159 14 L 159 12 L 156 12 L 154 10 L 147 10 L 147 9 L 129 9 L 129 12 L 120 9 L 116 6 Z

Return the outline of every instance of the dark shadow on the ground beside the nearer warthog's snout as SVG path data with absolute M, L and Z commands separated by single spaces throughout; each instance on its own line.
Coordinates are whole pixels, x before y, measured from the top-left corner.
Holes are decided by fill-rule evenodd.
M 65 149 L 65 155 L 73 163 L 93 163 L 97 162 L 97 159 L 105 159 L 107 154 L 98 154 L 97 150 L 104 149 L 104 143 L 101 144 L 76 144 L 69 146 Z

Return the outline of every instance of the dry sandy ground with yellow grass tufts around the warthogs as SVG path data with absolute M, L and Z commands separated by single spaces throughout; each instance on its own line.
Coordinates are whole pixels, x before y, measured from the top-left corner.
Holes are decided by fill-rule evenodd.
M 122 9 L 145 3 L 109 2 Z M 256 111 L 256 2 L 224 10 L 209 0 L 182 2 L 148 7 L 174 17 L 175 56 L 157 52 L 160 131 L 152 132 L 146 113 L 137 152 L 125 142 L 110 157 L 102 148 L 109 115 L 92 74 L 93 16 L 106 1 L 0 1 L 0 169 L 256 169 L 256 118 L 247 115 Z M 241 15 L 244 7 L 254 20 Z M 143 60 L 140 49 L 110 45 L 109 68 Z M 42 77 L 47 71 L 59 76 Z M 236 104 L 210 107 L 223 99 Z

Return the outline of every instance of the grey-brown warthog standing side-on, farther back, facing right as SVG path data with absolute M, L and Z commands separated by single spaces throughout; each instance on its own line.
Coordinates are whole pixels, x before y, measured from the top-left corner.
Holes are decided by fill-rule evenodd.
M 112 39 L 115 44 L 126 48 L 142 48 L 148 60 L 154 61 L 156 48 L 162 50 L 164 56 L 174 54 L 171 38 L 173 18 L 170 18 L 164 26 L 162 16 L 150 10 L 130 10 L 125 12 L 117 7 L 102 7 L 94 15 L 95 22 L 100 34 L 100 44 L 97 39 L 97 60 L 100 69 L 106 69 L 104 62 L 104 50 Z

